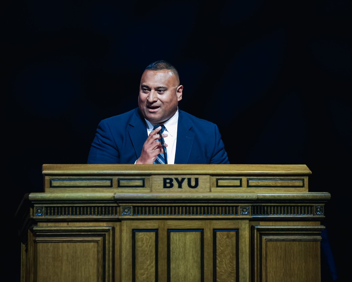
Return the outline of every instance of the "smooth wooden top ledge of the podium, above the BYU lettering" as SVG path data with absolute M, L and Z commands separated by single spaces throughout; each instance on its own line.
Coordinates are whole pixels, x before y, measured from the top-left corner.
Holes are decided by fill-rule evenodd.
M 231 175 L 309 175 L 306 165 L 133 165 L 133 164 L 44 164 L 44 175 L 114 175 L 114 174 L 231 174 Z

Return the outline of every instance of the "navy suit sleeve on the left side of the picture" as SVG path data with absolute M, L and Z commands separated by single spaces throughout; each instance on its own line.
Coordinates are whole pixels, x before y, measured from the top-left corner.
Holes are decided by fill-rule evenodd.
M 119 164 L 120 153 L 106 121 L 102 120 L 90 147 L 88 164 Z

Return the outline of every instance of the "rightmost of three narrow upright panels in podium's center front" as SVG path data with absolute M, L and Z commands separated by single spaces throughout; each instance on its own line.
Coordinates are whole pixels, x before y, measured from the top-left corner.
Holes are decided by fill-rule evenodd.
M 214 281 L 238 281 L 238 230 L 214 229 Z

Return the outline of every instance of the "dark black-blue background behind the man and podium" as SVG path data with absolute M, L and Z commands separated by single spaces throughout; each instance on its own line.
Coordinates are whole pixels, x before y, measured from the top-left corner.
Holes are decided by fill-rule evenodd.
M 338 280 L 345 281 L 351 6 L 333 0 L 5 4 L 2 278 L 19 281 L 11 224 L 23 195 L 43 190 L 42 165 L 86 163 L 99 121 L 135 108 L 144 68 L 163 59 L 180 73 L 180 109 L 218 124 L 231 164 L 306 164 L 313 173 L 309 190 L 331 193 L 323 224 Z M 327 257 L 322 252 L 323 282 L 336 278 Z

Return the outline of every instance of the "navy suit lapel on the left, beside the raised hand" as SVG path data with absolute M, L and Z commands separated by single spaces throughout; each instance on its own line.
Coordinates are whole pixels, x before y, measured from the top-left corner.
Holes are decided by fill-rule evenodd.
M 132 146 L 136 152 L 136 159 L 140 157 L 143 144 L 148 137 L 144 118 L 139 115 L 138 109 L 132 115 L 130 123 L 128 124 L 128 134 L 130 135 Z

